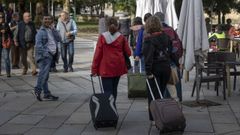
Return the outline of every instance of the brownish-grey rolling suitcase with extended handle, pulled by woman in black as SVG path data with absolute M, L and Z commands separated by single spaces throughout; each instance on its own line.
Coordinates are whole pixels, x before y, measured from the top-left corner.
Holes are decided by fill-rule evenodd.
M 161 99 L 156 99 L 153 95 L 149 80 L 146 79 L 153 101 L 150 103 L 150 111 L 155 121 L 156 127 L 161 133 L 184 131 L 186 119 L 174 99 L 164 99 L 156 78 L 154 78 Z

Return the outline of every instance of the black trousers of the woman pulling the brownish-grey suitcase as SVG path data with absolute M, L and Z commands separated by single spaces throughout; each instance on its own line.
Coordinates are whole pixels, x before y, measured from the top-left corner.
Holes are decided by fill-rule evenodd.
M 169 78 L 170 78 L 170 73 L 171 73 L 170 65 L 168 65 L 168 64 L 160 64 L 160 65 L 158 65 L 157 67 L 154 67 L 154 68 L 157 68 L 157 70 L 155 70 L 155 72 L 153 72 L 153 74 L 154 74 L 154 76 L 157 79 L 157 82 L 158 82 L 158 85 L 160 87 L 162 95 L 164 95 L 167 83 L 168 83 Z M 155 84 L 154 79 L 150 79 L 149 83 L 150 83 L 150 86 L 152 88 L 152 92 L 153 92 L 153 95 L 154 95 L 155 99 L 159 99 L 160 98 L 160 94 L 158 92 L 158 89 L 157 89 L 157 86 Z M 153 121 L 153 117 L 152 117 L 152 114 L 150 112 L 150 103 L 151 103 L 151 101 L 153 99 L 152 99 L 152 96 L 150 94 L 150 91 L 149 91 L 148 87 L 147 87 L 147 92 L 148 92 L 149 120 Z

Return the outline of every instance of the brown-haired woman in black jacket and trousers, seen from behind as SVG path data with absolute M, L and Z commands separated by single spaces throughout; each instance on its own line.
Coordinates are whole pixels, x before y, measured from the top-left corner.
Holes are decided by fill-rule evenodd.
M 171 73 L 170 62 L 172 57 L 172 42 L 169 36 L 163 32 L 160 21 L 156 16 L 151 16 L 147 19 L 145 32 L 148 33 L 143 42 L 146 75 L 148 79 L 151 79 L 150 86 L 156 86 L 152 79 L 154 77 L 157 79 L 163 95 Z M 153 99 L 149 89 L 147 91 L 148 105 L 150 105 Z M 152 87 L 152 92 L 156 99 L 160 98 L 156 87 Z M 149 119 L 153 121 L 150 110 Z

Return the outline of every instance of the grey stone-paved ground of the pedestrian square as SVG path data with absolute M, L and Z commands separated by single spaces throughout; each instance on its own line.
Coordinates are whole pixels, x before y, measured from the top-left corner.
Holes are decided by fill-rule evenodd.
M 120 119 L 117 129 L 96 131 L 93 128 L 89 113 L 93 41 L 91 38 L 76 40 L 75 72 L 62 73 L 60 63 L 57 67 L 59 72 L 50 75 L 50 90 L 60 97 L 59 101 L 35 100 L 31 90 L 36 77 L 32 77 L 30 71 L 26 76 L 21 76 L 21 70 L 13 70 L 11 78 L 0 76 L 0 135 L 158 135 L 148 120 L 147 100 L 127 98 L 126 76 L 119 84 L 117 108 Z M 190 82 L 183 81 L 184 101 L 195 99 L 190 97 L 193 76 L 194 72 L 191 72 Z M 238 89 L 239 86 L 238 81 Z M 206 85 L 202 87 L 201 98 L 222 105 L 208 108 L 183 106 L 187 119 L 183 135 L 240 135 L 239 91 L 234 91 L 232 97 L 223 101 L 221 94 L 216 96 L 213 84 L 210 90 Z

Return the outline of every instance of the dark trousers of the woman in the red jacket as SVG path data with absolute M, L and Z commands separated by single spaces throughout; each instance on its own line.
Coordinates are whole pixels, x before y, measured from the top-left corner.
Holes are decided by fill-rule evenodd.
M 102 84 L 104 93 L 112 94 L 117 99 L 117 87 L 120 76 L 117 77 L 102 77 Z

